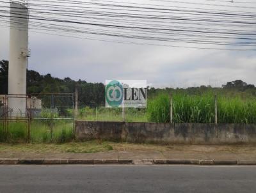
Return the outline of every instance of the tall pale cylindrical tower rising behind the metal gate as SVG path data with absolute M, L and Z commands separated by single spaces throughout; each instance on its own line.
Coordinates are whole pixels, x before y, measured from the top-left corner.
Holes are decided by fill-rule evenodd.
M 12 116 L 26 113 L 26 72 L 28 66 L 28 6 L 25 1 L 10 1 L 10 58 L 8 107 Z

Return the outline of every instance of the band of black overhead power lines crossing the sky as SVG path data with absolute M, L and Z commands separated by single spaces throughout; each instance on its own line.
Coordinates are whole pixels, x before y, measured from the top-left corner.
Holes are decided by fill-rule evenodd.
M 200 46 L 225 45 L 227 49 L 256 45 L 256 13 L 253 12 L 235 13 L 221 10 L 212 12 L 160 5 L 152 7 L 153 5 L 140 3 L 113 4 L 115 1 L 102 0 L 97 3 L 69 0 L 52 1 L 50 4 L 49 1 L 36 2 L 29 3 L 30 29 L 68 33 L 71 36 L 86 34 L 121 38 L 121 40 L 140 40 L 146 43 L 145 45 L 148 41 Z M 0 7 L 8 8 L 8 6 Z M 0 12 L 6 14 L 0 15 L 1 18 L 10 17 L 10 11 L 0 10 Z M 16 17 L 12 15 L 11 22 L 15 20 L 19 22 L 22 17 L 19 9 L 16 13 Z

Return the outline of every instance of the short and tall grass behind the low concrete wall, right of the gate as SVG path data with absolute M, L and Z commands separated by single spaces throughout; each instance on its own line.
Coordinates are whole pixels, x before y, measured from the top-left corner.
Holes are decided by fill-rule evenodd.
M 214 93 L 187 95 L 173 93 L 173 121 L 175 123 L 214 123 Z M 218 123 L 256 123 L 256 98 L 218 95 Z M 121 108 L 83 107 L 78 120 L 122 121 Z M 125 109 L 127 122 L 170 121 L 170 96 L 149 98 L 147 109 Z

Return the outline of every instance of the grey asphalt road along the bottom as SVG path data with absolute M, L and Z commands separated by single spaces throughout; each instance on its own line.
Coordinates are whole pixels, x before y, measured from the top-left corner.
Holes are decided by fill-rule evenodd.
M 253 166 L 0 166 L 0 192 L 256 192 Z

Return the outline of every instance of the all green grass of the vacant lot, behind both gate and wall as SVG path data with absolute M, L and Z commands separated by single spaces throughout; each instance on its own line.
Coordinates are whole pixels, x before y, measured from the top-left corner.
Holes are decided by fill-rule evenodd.
M 214 95 L 173 94 L 173 121 L 175 123 L 214 123 Z M 240 96 L 218 96 L 218 123 L 256 123 L 256 98 Z M 49 110 L 49 109 L 48 109 Z M 70 110 L 70 109 L 66 109 Z M 68 116 L 68 111 L 67 114 Z M 42 111 L 40 117 L 49 118 Z M 69 115 L 70 116 L 70 115 Z M 66 116 L 63 116 L 65 118 Z M 56 113 L 54 118 L 61 118 Z M 121 108 L 83 107 L 77 120 L 122 121 Z M 72 141 L 73 120 L 33 120 L 31 123 L 32 143 L 68 143 Z M 147 109 L 125 109 L 126 122 L 170 121 L 170 96 L 157 95 L 148 100 Z M 0 122 L 0 143 L 23 143 L 28 138 L 27 123 L 8 123 L 8 134 Z

